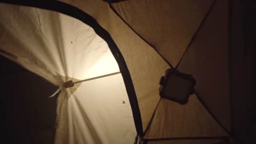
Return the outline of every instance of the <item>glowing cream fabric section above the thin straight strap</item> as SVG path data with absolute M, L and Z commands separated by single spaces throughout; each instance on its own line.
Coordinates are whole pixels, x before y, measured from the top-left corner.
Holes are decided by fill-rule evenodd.
M 6 7 L 10 7 L 7 12 L 1 9 L 2 47 L 14 55 L 19 53 L 19 61 L 30 58 L 44 71 L 76 79 L 119 71 L 107 43 L 83 22 L 52 11 L 41 14 L 39 9 Z

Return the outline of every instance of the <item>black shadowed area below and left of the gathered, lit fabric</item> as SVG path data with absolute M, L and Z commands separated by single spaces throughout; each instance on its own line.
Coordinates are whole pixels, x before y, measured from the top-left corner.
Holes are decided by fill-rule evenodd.
M 0 66 L 0 143 L 53 143 L 57 86 L 2 56 Z

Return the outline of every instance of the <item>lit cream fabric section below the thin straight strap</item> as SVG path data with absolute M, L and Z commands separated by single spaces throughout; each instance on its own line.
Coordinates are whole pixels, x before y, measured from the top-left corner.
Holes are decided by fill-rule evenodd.
M 118 74 L 84 82 L 71 95 L 68 143 L 134 142 L 131 106 L 120 79 Z

